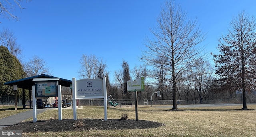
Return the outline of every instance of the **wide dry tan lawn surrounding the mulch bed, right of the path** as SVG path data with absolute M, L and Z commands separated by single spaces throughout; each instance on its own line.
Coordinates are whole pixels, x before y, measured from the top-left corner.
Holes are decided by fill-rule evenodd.
M 168 111 L 170 108 L 139 106 L 139 120 L 155 121 L 163 125 L 149 129 L 92 129 L 60 132 L 30 132 L 23 133 L 23 136 L 254 137 L 256 136 L 256 105 L 248 105 L 248 109 L 251 110 L 238 110 L 241 108 L 242 106 L 197 107 Z M 128 119 L 136 119 L 134 106 L 122 108 L 108 107 L 108 119 L 120 119 L 123 113 L 128 114 Z M 77 109 L 77 115 L 78 119 L 104 119 L 104 107 L 84 106 L 83 109 Z M 62 118 L 73 119 L 72 109 L 63 109 Z M 38 121 L 47 121 L 48 119 L 58 119 L 58 110 L 51 109 L 38 114 Z M 32 121 L 32 118 L 26 121 Z

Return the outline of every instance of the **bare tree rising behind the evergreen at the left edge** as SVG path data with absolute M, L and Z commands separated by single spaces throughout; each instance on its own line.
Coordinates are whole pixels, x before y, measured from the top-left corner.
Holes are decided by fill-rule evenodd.
M 8 48 L 10 54 L 16 58 L 21 55 L 22 49 L 20 44 L 17 43 L 17 38 L 13 31 L 8 28 L 3 28 L 2 31 L 0 31 L 0 42 L 1 45 Z

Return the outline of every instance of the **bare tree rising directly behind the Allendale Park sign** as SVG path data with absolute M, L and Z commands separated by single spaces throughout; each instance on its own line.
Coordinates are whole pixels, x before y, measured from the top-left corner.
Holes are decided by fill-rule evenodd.
M 106 69 L 106 64 L 102 61 L 102 58 L 97 58 L 95 55 L 83 55 L 80 64 L 79 76 L 86 79 L 100 78 Z

